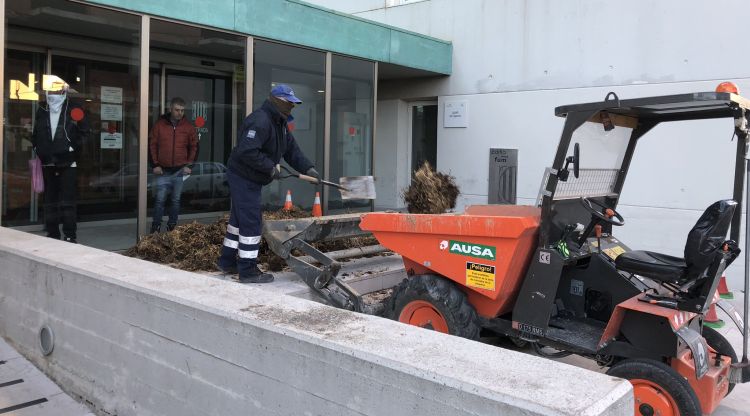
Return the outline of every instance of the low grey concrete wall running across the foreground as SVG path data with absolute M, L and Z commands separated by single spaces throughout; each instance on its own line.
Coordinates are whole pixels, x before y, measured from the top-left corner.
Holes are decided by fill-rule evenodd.
M 6 228 L 0 265 L 0 335 L 100 415 L 632 414 L 624 380 L 258 287 Z

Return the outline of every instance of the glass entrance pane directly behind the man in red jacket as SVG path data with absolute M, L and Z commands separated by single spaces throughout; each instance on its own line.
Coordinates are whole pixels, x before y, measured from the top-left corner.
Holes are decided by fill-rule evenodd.
M 245 38 L 152 20 L 150 40 L 149 129 L 160 117 L 169 117 L 173 98 L 182 98 L 184 117 L 199 139 L 190 175 L 183 176 L 180 220 L 215 218 L 217 211 L 229 210 L 225 163 L 245 111 Z M 148 169 L 149 218 L 157 176 L 152 168 Z

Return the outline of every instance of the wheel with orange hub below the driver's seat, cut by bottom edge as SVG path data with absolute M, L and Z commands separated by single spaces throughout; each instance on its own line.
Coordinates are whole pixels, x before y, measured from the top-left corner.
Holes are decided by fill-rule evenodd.
M 668 401 L 676 408 L 680 416 L 702 416 L 701 404 L 698 396 L 690 387 L 690 384 L 677 371 L 668 365 L 655 360 L 644 358 L 631 358 L 620 361 L 613 365 L 607 374 L 610 376 L 624 378 L 626 380 L 645 380 L 655 385 L 659 395 L 668 396 Z M 659 409 L 660 403 L 650 403 L 646 395 L 639 395 L 640 389 L 650 392 L 652 386 L 642 381 L 633 383 L 633 394 L 635 396 L 635 414 L 657 414 L 654 409 Z M 640 400 L 640 401 L 639 401 Z M 650 407 L 651 412 L 645 411 Z M 643 409 L 643 410 L 641 410 Z M 662 411 L 661 414 L 669 414 Z M 671 412 L 674 414 L 674 411 Z

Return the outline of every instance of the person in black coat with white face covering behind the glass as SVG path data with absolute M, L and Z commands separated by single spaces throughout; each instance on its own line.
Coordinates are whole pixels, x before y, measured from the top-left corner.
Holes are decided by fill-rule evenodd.
M 89 133 L 83 108 L 70 101 L 68 86 L 47 91 L 34 120 L 31 142 L 42 163 L 47 237 L 76 243 L 76 160 Z

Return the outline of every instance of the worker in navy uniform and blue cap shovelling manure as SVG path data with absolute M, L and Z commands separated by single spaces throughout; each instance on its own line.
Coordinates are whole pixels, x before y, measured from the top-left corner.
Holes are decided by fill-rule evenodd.
M 276 85 L 263 105 L 245 118 L 237 146 L 229 155 L 232 208 L 217 266 L 225 273 L 238 272 L 241 283 L 273 281 L 273 275 L 257 267 L 263 223 L 261 188 L 279 178 L 281 158 L 298 172 L 320 179 L 287 128 L 292 108 L 301 103 L 289 86 Z

